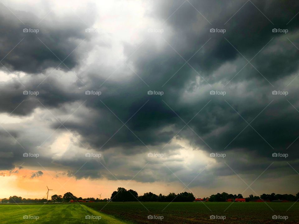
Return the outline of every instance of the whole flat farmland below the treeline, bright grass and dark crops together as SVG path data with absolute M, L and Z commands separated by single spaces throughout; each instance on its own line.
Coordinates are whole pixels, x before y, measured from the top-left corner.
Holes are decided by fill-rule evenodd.
M 4 204 L 0 205 L 0 223 L 299 223 L 299 203 L 293 205 L 293 203 L 146 202 L 142 204 L 139 202 L 81 205 Z M 228 209 L 225 211 L 226 208 Z M 33 219 L 23 219 L 26 215 Z M 87 215 L 93 216 L 93 219 L 85 219 Z M 148 219 L 149 215 L 163 216 L 163 219 Z M 211 215 L 225 216 L 225 219 L 224 221 L 210 219 Z M 288 219 L 273 220 L 273 215 L 287 216 Z M 34 219 L 34 216 L 38 216 L 38 219 Z M 97 219 L 97 216 L 101 216 L 101 219 Z

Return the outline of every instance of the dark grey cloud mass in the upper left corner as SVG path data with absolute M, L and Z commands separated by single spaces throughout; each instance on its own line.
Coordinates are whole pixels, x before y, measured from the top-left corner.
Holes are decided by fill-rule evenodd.
M 13 10 L 20 21 L 1 5 L 0 60 L 9 71 L 39 73 L 59 64 L 59 68 L 68 71 L 78 64 L 83 52 L 78 54 L 76 48 L 85 38 L 90 39 L 85 33 L 88 25 L 80 18 L 74 15 L 51 18 L 49 15 L 50 20 L 42 21 L 43 18 L 32 13 Z M 91 11 L 89 15 L 92 14 Z M 23 29 L 39 31 L 24 32 Z

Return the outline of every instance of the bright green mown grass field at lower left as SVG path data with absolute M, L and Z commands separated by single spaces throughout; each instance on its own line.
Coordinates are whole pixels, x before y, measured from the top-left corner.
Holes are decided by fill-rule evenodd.
M 0 223 L 126 224 L 129 222 L 120 221 L 79 204 L 4 204 L 0 205 Z

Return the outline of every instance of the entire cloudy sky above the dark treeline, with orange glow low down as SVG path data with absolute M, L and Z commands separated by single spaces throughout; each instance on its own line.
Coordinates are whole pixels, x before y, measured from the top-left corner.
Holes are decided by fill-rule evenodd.
M 0 198 L 298 193 L 298 1 L 0 5 Z

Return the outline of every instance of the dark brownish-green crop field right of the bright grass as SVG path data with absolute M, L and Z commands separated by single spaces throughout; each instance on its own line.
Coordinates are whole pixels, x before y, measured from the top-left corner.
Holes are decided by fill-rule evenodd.
M 135 223 L 299 223 L 299 203 L 293 205 L 293 203 L 273 202 L 267 204 L 254 202 L 173 202 L 170 204 L 146 202 L 142 204 L 139 202 L 112 202 L 107 204 L 90 203 L 87 206 Z M 225 211 L 225 209 L 227 210 Z M 148 219 L 148 216 L 154 215 L 157 219 Z M 225 219 L 224 221 L 221 219 L 210 219 L 212 215 L 218 216 L 218 218 L 225 216 Z M 273 220 L 273 215 L 280 216 L 280 218 L 287 216 L 287 220 Z M 162 216 L 162 220 L 158 219 Z

